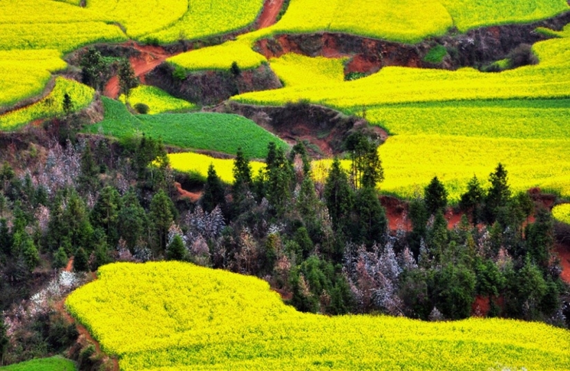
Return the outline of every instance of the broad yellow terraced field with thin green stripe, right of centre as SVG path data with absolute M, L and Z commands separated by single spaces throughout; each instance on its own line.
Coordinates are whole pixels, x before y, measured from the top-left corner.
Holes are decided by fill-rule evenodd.
M 514 189 L 569 196 L 570 38 L 564 35 L 533 46 L 538 65 L 503 73 L 386 67 L 352 82 L 232 99 L 262 105 L 309 99 L 365 115 L 395 134 L 380 149 L 386 193 L 412 197 L 437 175 L 457 200 L 474 173 L 486 179 L 503 162 Z

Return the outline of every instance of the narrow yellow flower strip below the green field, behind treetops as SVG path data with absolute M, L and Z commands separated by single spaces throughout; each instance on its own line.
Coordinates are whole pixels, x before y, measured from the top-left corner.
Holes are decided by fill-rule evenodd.
M 233 184 L 234 179 L 234 160 L 213 158 L 200 153 L 170 153 L 168 155 L 170 166 L 172 169 L 184 173 L 196 173 L 201 178 L 206 179 L 208 176 L 208 168 L 210 164 L 216 169 L 216 173 L 227 184 Z M 250 161 L 251 175 L 257 175 L 260 169 L 265 169 L 265 162 Z

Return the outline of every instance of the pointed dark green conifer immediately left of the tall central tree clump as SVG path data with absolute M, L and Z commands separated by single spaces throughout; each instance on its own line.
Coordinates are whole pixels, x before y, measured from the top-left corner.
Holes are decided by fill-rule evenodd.
M 348 175 L 341 168 L 338 158 L 332 161 L 325 182 L 324 197 L 334 229 L 344 229 L 350 218 L 354 194 L 348 182 Z

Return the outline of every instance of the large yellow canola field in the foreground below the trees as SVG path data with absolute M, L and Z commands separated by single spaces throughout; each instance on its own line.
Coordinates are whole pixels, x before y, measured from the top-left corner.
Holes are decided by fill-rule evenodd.
M 189 263 L 114 263 L 66 307 L 130 370 L 567 370 L 570 332 L 471 318 L 320 316 L 265 281 Z

